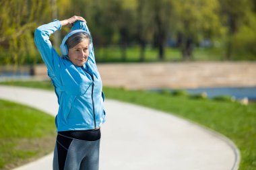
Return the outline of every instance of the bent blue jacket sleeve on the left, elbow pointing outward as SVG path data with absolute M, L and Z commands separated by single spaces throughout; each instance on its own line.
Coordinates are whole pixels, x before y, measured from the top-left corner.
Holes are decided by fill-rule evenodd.
M 42 56 L 42 60 L 51 75 L 55 74 L 55 66 L 59 64 L 60 56 L 53 48 L 49 40 L 51 34 L 55 31 L 61 30 L 61 22 L 55 20 L 49 24 L 44 24 L 36 29 L 34 32 L 34 41 L 38 51 Z

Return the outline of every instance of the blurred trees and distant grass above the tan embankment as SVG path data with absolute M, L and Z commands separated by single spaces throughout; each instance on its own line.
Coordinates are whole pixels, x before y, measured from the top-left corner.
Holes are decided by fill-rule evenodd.
M 86 18 L 98 62 L 255 60 L 254 0 L 10 0 L 0 2 L 0 64 L 42 63 L 34 30 Z M 59 50 L 63 28 L 51 37 Z

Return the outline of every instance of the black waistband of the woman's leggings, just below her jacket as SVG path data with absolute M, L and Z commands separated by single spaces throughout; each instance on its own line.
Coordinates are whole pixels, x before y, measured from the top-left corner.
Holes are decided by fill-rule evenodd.
M 100 128 L 93 130 L 69 130 L 58 132 L 59 135 L 79 140 L 95 141 L 100 139 Z

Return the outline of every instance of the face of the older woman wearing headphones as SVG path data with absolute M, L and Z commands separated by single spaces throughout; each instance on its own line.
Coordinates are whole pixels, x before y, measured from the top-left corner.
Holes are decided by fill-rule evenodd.
M 69 60 L 76 66 L 83 66 L 89 56 L 89 40 L 86 39 L 73 48 L 69 48 Z

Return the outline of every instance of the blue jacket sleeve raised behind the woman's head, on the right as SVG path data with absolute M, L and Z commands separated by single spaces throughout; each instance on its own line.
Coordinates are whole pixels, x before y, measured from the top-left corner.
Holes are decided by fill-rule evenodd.
M 92 44 L 92 35 L 90 33 L 90 30 L 88 28 L 88 26 L 86 25 L 85 22 L 81 22 L 81 21 L 77 21 L 75 22 L 75 24 L 72 26 L 71 30 L 85 30 L 86 32 L 88 32 L 88 34 L 90 34 L 91 37 L 91 44 L 89 46 L 89 50 L 90 50 L 90 54 L 89 54 L 89 58 L 90 60 L 92 60 L 92 62 L 95 64 L 95 56 L 94 56 L 94 46 Z

